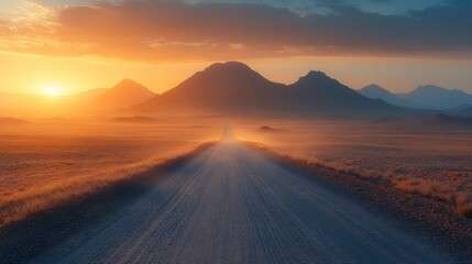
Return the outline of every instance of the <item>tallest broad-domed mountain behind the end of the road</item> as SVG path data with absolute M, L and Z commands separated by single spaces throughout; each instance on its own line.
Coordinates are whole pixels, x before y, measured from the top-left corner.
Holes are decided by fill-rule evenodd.
M 213 64 L 133 109 L 179 113 L 278 111 L 285 88 L 244 64 Z

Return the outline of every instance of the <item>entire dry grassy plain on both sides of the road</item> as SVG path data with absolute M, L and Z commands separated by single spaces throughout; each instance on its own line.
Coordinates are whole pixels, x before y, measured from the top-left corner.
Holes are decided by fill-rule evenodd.
M 461 216 L 471 215 L 472 130 L 392 128 L 369 121 L 37 120 L 0 130 L 0 223 L 96 191 L 218 140 L 224 123 L 240 140 L 378 178 L 402 191 L 452 204 Z M 261 125 L 274 130 L 260 130 Z

